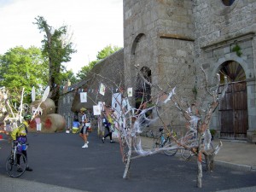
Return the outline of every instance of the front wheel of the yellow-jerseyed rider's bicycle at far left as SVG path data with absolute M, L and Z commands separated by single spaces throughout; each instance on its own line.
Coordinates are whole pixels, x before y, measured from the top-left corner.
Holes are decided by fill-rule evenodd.
M 20 164 L 18 164 L 20 158 Z M 5 170 L 10 177 L 20 177 L 26 171 L 26 156 L 24 154 L 10 154 L 5 163 Z

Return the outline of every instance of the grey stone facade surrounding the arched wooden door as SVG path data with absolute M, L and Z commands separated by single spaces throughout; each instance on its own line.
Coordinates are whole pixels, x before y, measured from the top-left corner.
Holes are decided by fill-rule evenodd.
M 236 0 L 231 6 L 224 6 L 218 0 L 194 1 L 195 16 L 195 63 L 203 67 L 210 83 L 224 61 L 238 62 L 246 73 L 248 131 L 255 125 L 255 31 L 256 2 Z M 232 51 L 236 44 L 241 55 Z M 238 101 L 237 101 L 238 102 Z M 212 119 L 212 127 L 219 129 L 218 110 Z

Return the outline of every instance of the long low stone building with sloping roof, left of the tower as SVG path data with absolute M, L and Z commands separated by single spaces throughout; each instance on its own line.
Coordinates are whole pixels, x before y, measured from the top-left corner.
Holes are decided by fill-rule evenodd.
M 87 108 L 93 118 L 94 116 L 91 115 L 92 106 L 96 105 L 97 102 L 104 101 L 111 105 L 112 91 L 116 89 L 109 90 L 109 87 L 115 88 L 114 84 L 109 83 L 109 80 L 117 82 L 121 86 L 121 82 L 124 82 L 123 73 L 124 49 L 120 49 L 98 62 L 86 79 L 77 84 L 72 84 L 67 92 L 63 92 L 59 100 L 58 113 L 66 119 L 67 128 L 72 127 L 74 116 L 79 115 L 79 108 Z M 100 83 L 108 84 L 105 96 L 97 93 Z M 81 91 L 88 94 L 86 103 L 80 102 L 79 92 Z

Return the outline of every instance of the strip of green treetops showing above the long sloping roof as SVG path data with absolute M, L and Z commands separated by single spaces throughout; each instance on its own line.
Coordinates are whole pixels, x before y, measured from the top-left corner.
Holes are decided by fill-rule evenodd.
M 112 46 L 112 45 L 106 46 L 105 48 L 103 48 L 101 51 L 98 52 L 98 54 L 96 55 L 96 61 L 90 61 L 90 63 L 87 66 L 82 67 L 79 73 L 77 73 L 77 77 L 79 79 L 85 79 L 86 75 L 90 73 L 90 70 L 92 69 L 92 67 L 95 66 L 97 62 L 102 61 L 103 59 L 113 54 L 114 52 L 118 51 L 119 49 L 122 49 L 122 48 L 118 46 Z

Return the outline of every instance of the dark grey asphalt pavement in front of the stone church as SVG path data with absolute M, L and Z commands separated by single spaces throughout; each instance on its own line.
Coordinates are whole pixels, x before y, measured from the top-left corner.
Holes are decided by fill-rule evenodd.
M 208 192 L 241 188 L 255 191 L 250 187 L 256 186 L 256 172 L 225 166 L 216 166 L 214 172 L 203 172 L 202 189 L 198 189 L 195 161 L 183 161 L 164 154 L 133 160 L 131 178 L 123 179 L 125 167 L 119 143 L 102 143 L 96 132 L 90 134 L 89 148 L 81 148 L 83 143 L 78 135 L 73 134 L 30 133 L 28 137 L 29 164 L 34 171 L 25 172 L 20 178 L 10 178 L 5 174 L 4 161 L 10 147 L 7 141 L 0 141 L 0 191 L 18 192 L 18 184 L 22 191 L 28 192 Z

